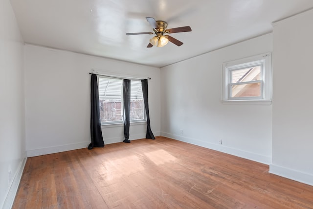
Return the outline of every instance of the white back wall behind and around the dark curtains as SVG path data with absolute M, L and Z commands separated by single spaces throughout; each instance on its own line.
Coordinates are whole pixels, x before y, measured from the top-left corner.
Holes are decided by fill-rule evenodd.
M 151 77 L 151 128 L 160 134 L 160 70 L 112 59 L 25 46 L 27 156 L 87 147 L 90 143 L 91 69 L 111 75 Z M 104 72 L 106 71 L 106 72 Z M 105 126 L 106 144 L 123 140 L 123 126 Z M 146 123 L 131 125 L 130 139 L 145 138 Z

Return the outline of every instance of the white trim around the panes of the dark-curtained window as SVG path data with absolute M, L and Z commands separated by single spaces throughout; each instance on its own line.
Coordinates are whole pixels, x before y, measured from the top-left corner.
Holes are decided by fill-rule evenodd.
M 100 75 L 97 74 L 97 85 L 98 85 L 98 89 L 99 89 L 99 78 L 103 77 L 103 78 L 111 78 L 111 75 Z M 123 78 L 118 78 L 118 77 L 114 77 L 115 79 L 121 79 L 123 80 Z M 130 80 L 132 78 L 129 78 Z M 122 82 L 122 86 L 121 86 L 121 93 L 123 93 L 123 82 Z M 121 103 L 122 103 L 122 107 L 124 108 L 124 100 L 123 100 L 123 94 L 121 94 Z M 124 115 L 124 110 L 123 110 L 123 115 Z M 135 119 L 135 120 L 130 120 L 130 124 L 146 124 L 147 123 L 147 114 L 146 114 L 146 108 L 144 106 L 143 109 L 143 119 Z M 122 118 L 122 121 L 108 121 L 108 122 L 101 122 L 101 126 L 111 126 L 113 127 L 114 125 L 120 126 L 124 124 L 124 117 Z

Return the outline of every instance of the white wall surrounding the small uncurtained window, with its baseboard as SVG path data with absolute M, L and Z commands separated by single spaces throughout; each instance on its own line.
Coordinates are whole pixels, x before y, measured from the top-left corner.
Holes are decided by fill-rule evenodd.
M 161 135 L 271 163 L 272 106 L 221 102 L 222 63 L 271 51 L 267 34 L 162 68 Z

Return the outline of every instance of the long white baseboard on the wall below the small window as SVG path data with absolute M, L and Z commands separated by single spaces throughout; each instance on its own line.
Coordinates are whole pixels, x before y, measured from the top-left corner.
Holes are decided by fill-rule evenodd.
M 206 141 L 201 141 L 198 139 L 192 139 L 192 138 L 187 138 L 187 137 L 182 137 L 179 135 L 174 135 L 174 134 L 170 134 L 170 133 L 166 133 L 166 132 L 161 132 L 161 136 L 164 137 L 168 137 L 171 139 L 177 139 L 179 141 L 183 141 L 183 142 L 187 142 L 190 144 L 195 144 L 201 147 L 205 147 L 208 149 L 213 149 L 219 152 L 224 152 L 230 155 L 234 155 L 237 157 L 241 157 L 241 158 L 245 158 L 251 161 L 255 161 L 255 162 L 259 162 L 259 163 L 264 163 L 264 164 L 270 164 L 271 163 L 271 157 L 269 156 L 263 156 L 263 155 L 259 155 L 256 153 L 251 153 L 251 152 L 247 152 L 244 150 L 239 150 L 239 149 L 235 149 L 232 147 L 227 147 L 221 144 L 214 144 L 214 143 L 210 143 L 210 142 L 206 142 Z

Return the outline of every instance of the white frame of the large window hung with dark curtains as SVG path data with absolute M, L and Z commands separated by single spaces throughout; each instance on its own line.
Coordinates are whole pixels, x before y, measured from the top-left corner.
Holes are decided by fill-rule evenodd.
M 107 78 L 107 79 L 120 79 L 122 80 L 122 84 L 121 84 L 121 108 L 122 108 L 122 120 L 118 120 L 118 121 L 106 121 L 106 122 L 102 122 L 101 121 L 101 126 L 107 126 L 107 125 L 122 125 L 124 124 L 124 100 L 123 100 L 123 78 L 118 78 L 118 77 L 113 77 L 113 76 L 106 76 L 106 75 L 99 75 L 97 74 L 97 82 L 98 82 L 98 93 L 99 93 L 99 84 L 100 84 L 100 77 L 102 78 Z M 126 78 L 127 79 L 127 78 Z M 132 79 L 130 79 L 132 80 Z M 133 79 L 134 81 L 134 79 Z M 99 100 L 100 100 L 100 96 L 99 96 Z M 100 102 L 100 101 L 99 101 Z M 143 119 L 130 119 L 130 123 L 145 123 L 147 122 L 147 116 L 146 116 L 146 108 L 145 108 L 145 105 L 144 105 L 144 99 L 143 99 Z M 101 118 L 100 118 L 101 119 Z

